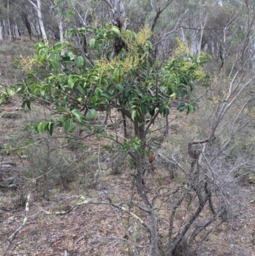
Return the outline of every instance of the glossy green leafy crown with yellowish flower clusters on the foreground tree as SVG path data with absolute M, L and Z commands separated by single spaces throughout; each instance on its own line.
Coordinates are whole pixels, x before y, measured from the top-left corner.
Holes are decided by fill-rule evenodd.
M 157 114 L 170 113 L 171 100 L 179 102 L 178 110 L 194 112 L 197 100 L 182 101 L 193 91 L 194 86 L 208 85 L 209 77 L 202 66 L 208 56 L 191 57 L 182 54 L 166 63 L 157 63 L 150 57 L 151 32 L 144 27 L 139 33 L 124 31 L 127 49 L 112 59 L 113 38 L 120 37 L 117 27 L 107 24 L 98 29 L 87 26 L 69 29 L 69 38 L 77 35 L 80 40 L 89 39 L 87 51 L 94 56 L 80 56 L 71 43 L 57 42 L 52 46 L 36 44 L 36 56 L 29 61 L 22 59 L 20 66 L 27 72 L 22 83 L 14 84 L 1 94 L 1 101 L 18 94 L 22 107 L 31 109 L 31 103 L 40 102 L 52 110 L 50 119 L 34 124 L 37 133 L 54 132 L 54 127 L 63 127 L 66 132 L 78 128 L 92 132 L 89 119 L 100 110 L 117 107 L 125 111 L 134 123 L 144 126 L 145 114 L 150 114 L 147 123 L 154 123 Z M 64 55 L 61 54 L 64 52 Z M 100 128 L 101 129 L 101 128 Z M 135 149 L 142 155 L 141 138 L 126 142 L 124 149 Z

